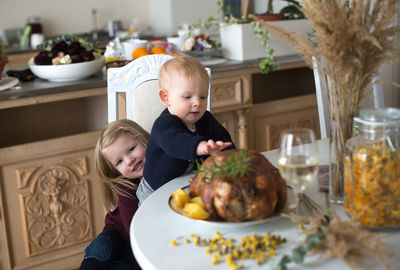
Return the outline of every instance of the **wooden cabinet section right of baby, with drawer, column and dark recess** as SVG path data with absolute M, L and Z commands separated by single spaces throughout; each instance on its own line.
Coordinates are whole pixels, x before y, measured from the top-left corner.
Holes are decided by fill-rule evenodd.
M 312 71 L 282 65 L 260 74 L 258 69 L 225 71 L 212 77 L 211 109 L 231 134 L 237 148 L 267 151 L 279 147 L 284 129 L 307 127 L 319 137 Z

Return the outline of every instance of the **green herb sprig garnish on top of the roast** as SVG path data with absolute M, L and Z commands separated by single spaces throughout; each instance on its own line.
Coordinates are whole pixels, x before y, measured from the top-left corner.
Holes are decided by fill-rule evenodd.
M 211 182 L 215 177 L 222 180 L 225 178 L 243 177 L 253 171 L 253 168 L 250 167 L 250 160 L 252 158 L 246 155 L 245 150 L 239 150 L 231 153 L 222 165 L 218 165 L 213 160 L 211 165 L 200 167 L 201 162 L 196 160 L 196 165 L 199 169 L 195 172 L 204 173 L 206 175 L 204 181 L 206 182 Z

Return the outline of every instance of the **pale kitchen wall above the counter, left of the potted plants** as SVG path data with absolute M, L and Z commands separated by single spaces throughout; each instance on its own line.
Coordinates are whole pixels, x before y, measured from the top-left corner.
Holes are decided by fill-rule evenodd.
M 86 33 L 93 30 L 92 9 L 98 10 L 98 27 L 122 20 L 128 29 L 134 18 L 139 30 L 148 27 L 158 36 L 173 35 L 182 23 L 217 16 L 216 0 L 0 0 L 0 29 L 23 28 L 29 16 L 41 18 L 45 36 Z

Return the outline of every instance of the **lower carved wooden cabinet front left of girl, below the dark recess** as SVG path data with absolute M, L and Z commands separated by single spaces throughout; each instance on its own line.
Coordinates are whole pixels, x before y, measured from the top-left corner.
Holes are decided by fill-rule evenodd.
M 99 132 L 0 150 L 6 269 L 68 269 L 104 227 L 94 170 Z

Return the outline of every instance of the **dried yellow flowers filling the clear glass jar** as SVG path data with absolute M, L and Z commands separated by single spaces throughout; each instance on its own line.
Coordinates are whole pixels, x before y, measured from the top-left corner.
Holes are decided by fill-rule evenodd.
M 400 152 L 355 144 L 345 158 L 345 211 L 368 228 L 400 225 Z

